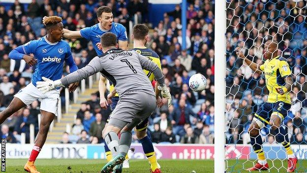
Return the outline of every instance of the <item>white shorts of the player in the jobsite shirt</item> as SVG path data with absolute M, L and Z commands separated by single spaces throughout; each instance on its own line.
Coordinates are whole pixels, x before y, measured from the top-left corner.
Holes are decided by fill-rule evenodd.
M 31 82 L 15 94 L 14 97 L 20 99 L 27 106 L 41 99 L 40 109 L 51 112 L 57 116 L 60 90 L 52 90 L 42 94 Z

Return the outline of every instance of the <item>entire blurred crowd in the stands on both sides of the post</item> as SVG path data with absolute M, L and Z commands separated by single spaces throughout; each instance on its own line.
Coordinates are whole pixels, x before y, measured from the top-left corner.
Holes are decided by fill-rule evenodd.
M 214 0 L 187 1 L 186 48 L 182 49 L 181 5 L 176 5 L 172 11 L 165 11 L 163 21 L 151 30 L 153 32 L 147 42 L 147 47 L 160 57 L 162 72 L 173 96 L 173 104 L 170 107 L 167 106 L 167 101 L 163 100 L 163 106 L 156 108 L 150 117 L 148 129 L 153 142 L 156 143 L 214 143 Z M 279 42 L 281 55 L 287 58 L 295 81 L 291 91 L 293 105 L 288 118 L 284 120 L 284 126 L 287 127 L 293 143 L 305 142 L 306 2 L 246 1 L 227 4 L 227 142 L 249 142 L 246 130 L 253 113 L 266 101 L 265 95 L 268 94 L 263 76 L 253 73 L 245 65 L 242 66 L 243 62 L 233 50 L 237 46 L 245 47 L 246 56 L 256 63 L 261 63 L 262 43 L 263 40 L 269 39 L 267 35 L 274 35 L 274 39 Z M 110 6 L 115 17 L 114 22 L 123 24 L 127 31 L 128 21 L 133 21 L 134 14 L 138 15 L 139 23 L 148 22 L 148 11 L 144 8 L 148 5 L 147 0 L 44 0 L 43 4 L 32 0 L 27 8 L 16 0 L 9 10 L 0 6 L 1 110 L 10 103 L 16 92 L 30 82 L 35 68 L 29 67 L 24 61 L 8 59 L 9 51 L 29 40 L 46 35 L 41 24 L 43 16 L 58 15 L 63 19 L 64 28 L 75 31 L 97 23 L 95 10 L 101 5 Z M 274 8 L 276 10 L 272 10 Z M 92 42 L 84 38 L 67 41 L 79 69 L 86 66 L 96 55 Z M 69 69 L 64 68 L 63 71 L 66 75 Z M 189 77 L 194 73 L 201 73 L 207 78 L 208 85 L 203 92 L 195 93 L 188 87 Z M 63 92 L 61 96 L 63 100 Z M 97 93 L 93 93 L 90 101 L 80 105 L 72 130 L 63 133 L 61 143 L 102 142 L 101 131 L 111 109 L 102 110 L 98 98 Z M 18 141 L 16 137 L 22 132 L 27 134 L 30 123 L 34 123 L 37 133 L 38 105 L 38 102 L 34 102 L 8 118 L 5 125 L 1 126 L 2 137 L 6 136 L 11 142 Z M 268 134 L 268 129 L 264 129 L 264 140 L 273 142 Z M 135 135 L 133 141 L 138 142 Z

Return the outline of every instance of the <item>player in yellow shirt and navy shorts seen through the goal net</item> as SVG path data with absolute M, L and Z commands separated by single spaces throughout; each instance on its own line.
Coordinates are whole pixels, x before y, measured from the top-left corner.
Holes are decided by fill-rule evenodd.
M 288 134 L 280 126 L 291 107 L 289 91 L 291 90 L 292 77 L 287 60 L 277 55 L 278 43 L 271 40 L 264 45 L 263 56 L 266 61 L 261 66 L 248 60 L 238 47 L 236 53 L 252 70 L 259 74 L 265 74 L 266 86 L 269 90 L 267 102 L 258 108 L 248 128 L 251 145 L 258 156 L 257 164 L 249 168 L 248 171 L 269 169 L 262 149 L 262 139 L 259 135 L 259 131 L 269 124 L 275 134 L 276 141 L 281 143 L 286 150 L 288 157 L 287 172 L 292 173 L 298 160 L 291 149 Z

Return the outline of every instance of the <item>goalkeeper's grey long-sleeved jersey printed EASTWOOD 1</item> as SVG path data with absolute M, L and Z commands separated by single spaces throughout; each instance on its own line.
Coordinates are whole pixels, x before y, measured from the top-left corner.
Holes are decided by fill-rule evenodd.
M 158 66 L 136 51 L 111 49 L 105 54 L 95 57 L 84 68 L 78 69 L 61 79 L 64 86 L 80 81 L 88 76 L 101 72 L 115 87 L 119 96 L 129 91 L 144 91 L 155 95 L 153 86 L 143 69 L 152 71 L 157 82 L 164 84 L 164 76 Z

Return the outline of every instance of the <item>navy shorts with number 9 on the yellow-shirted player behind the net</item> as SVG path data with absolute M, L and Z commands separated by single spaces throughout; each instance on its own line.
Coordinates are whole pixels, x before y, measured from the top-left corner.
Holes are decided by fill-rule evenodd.
M 281 121 L 288 115 L 288 111 L 291 108 L 291 104 L 284 102 L 276 103 L 264 103 L 262 104 L 257 112 L 255 113 L 254 120 L 257 120 L 256 123 L 260 128 L 270 124 L 271 115 L 276 114 L 281 118 Z

